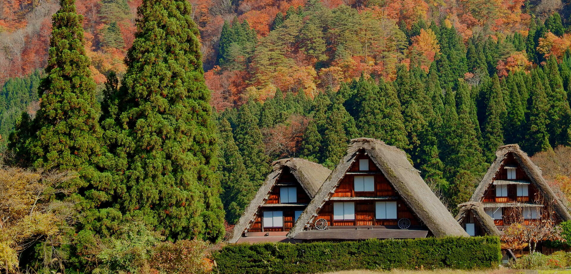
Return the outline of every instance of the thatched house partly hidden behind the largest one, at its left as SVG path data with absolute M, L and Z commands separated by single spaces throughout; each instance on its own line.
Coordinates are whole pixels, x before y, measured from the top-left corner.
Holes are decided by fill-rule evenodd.
M 331 170 L 301 158 L 272 163 L 273 170 L 234 227 L 229 243 L 283 241 Z M 297 216 L 296 216 L 297 215 Z

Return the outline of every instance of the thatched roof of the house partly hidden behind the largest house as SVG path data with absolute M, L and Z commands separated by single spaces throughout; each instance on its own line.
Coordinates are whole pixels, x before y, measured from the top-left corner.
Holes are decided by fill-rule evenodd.
M 274 166 L 274 169 L 268 174 L 266 181 L 260 186 L 258 193 L 256 193 L 256 196 L 250 201 L 250 205 L 248 205 L 246 211 L 244 211 L 240 220 L 238 220 L 238 224 L 234 227 L 234 233 L 230 240 L 228 240 L 229 243 L 236 243 L 248 225 L 256 219 L 258 208 L 264 204 L 264 201 L 270 196 L 272 186 L 274 186 L 276 180 L 278 180 L 284 170 L 289 170 L 293 174 L 293 177 L 296 178 L 309 198 L 315 196 L 321 184 L 323 184 L 327 176 L 331 173 L 331 170 L 325 168 L 325 166 L 301 158 L 287 158 L 274 161 L 272 162 L 272 166 Z

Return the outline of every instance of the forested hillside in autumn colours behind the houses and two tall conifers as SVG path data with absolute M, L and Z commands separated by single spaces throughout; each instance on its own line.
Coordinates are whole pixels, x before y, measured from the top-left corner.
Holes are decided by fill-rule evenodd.
M 533 154 L 571 141 L 567 3 L 192 1 L 230 223 L 271 160 L 333 168 L 353 137 L 405 149 L 451 208 L 498 145 Z M 105 77 L 126 71 L 139 5 L 77 2 L 99 100 Z M 3 144 L 17 113 L 37 108 L 37 75 L 27 75 L 45 65 L 55 9 L 53 0 L 3 6 Z

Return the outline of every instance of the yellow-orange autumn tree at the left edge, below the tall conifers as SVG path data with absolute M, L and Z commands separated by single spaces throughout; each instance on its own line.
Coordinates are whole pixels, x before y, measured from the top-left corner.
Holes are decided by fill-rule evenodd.
M 61 269 L 63 253 L 51 252 L 70 244 L 70 225 L 79 221 L 73 201 L 58 201 L 56 196 L 69 196 L 65 188 L 74 173 L 38 173 L 16 168 L 0 169 L 0 268 L 18 273 L 18 267 L 33 263 L 35 256 L 22 256 L 30 248 L 38 248 L 39 262 L 49 269 Z

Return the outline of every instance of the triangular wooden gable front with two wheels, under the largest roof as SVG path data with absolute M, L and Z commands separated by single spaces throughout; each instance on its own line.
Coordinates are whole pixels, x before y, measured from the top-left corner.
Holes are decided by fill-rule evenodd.
M 331 227 L 396 228 L 403 218 L 409 219 L 413 227 L 421 226 L 419 218 L 363 150 L 333 191 L 316 217 L 327 220 Z

